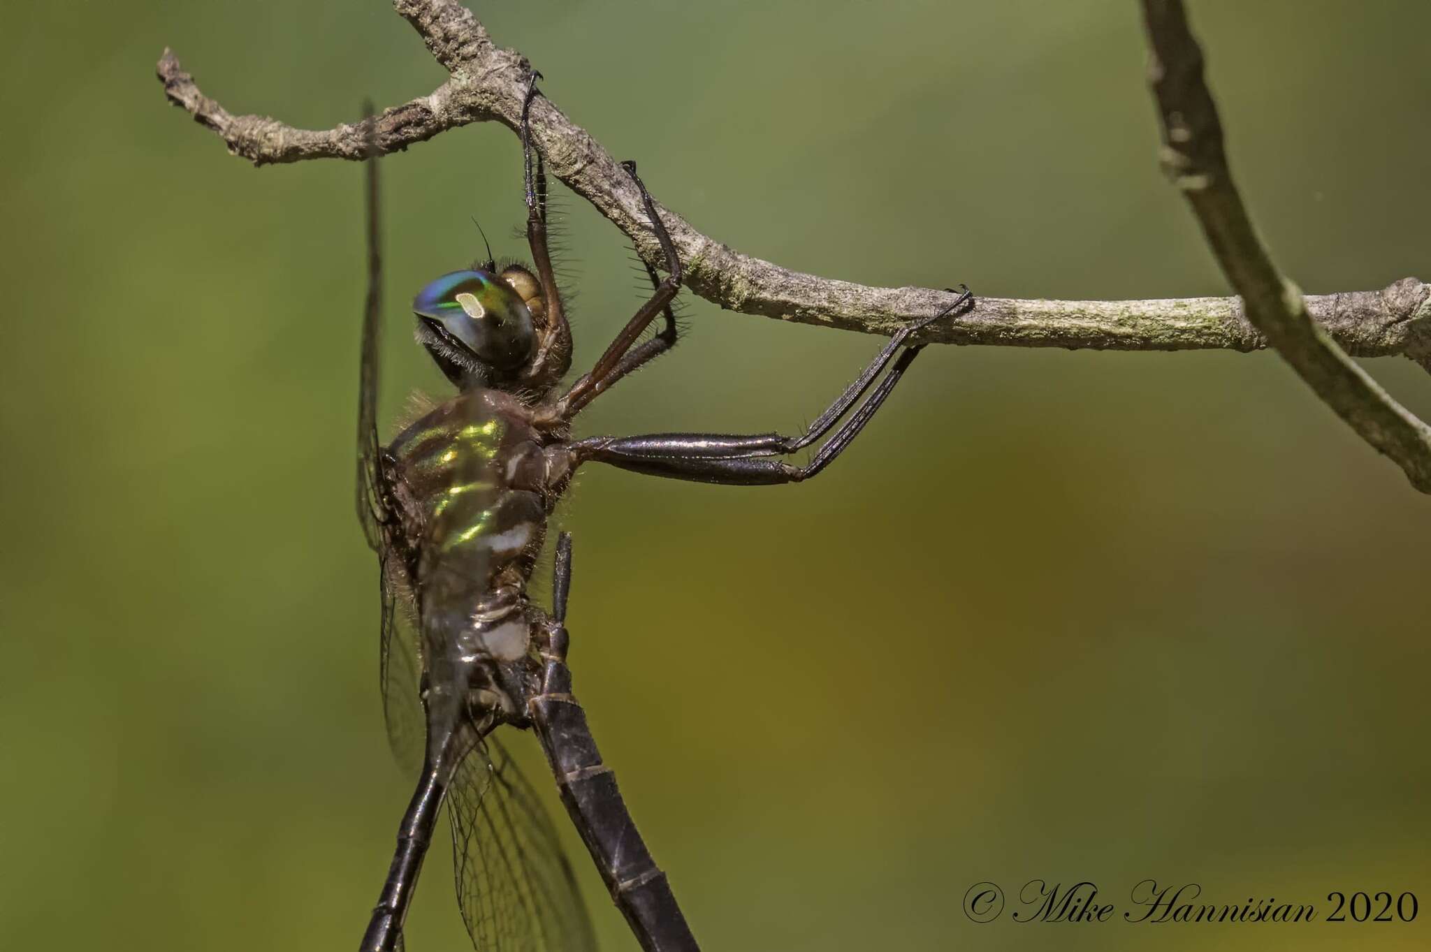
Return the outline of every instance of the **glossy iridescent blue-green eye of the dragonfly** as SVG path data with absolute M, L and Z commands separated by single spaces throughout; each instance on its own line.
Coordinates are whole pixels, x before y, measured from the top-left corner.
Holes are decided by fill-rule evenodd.
M 531 359 L 537 343 L 532 316 L 521 296 L 491 272 L 452 272 L 412 299 L 412 312 L 444 343 L 479 363 L 509 370 Z

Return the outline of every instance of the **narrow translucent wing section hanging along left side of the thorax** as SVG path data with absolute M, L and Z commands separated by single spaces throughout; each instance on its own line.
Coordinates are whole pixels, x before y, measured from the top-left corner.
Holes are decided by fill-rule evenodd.
M 382 643 L 379 676 L 382 679 L 382 716 L 388 722 L 392 756 L 408 775 L 422 766 L 426 725 L 418 685 L 422 676 L 421 640 L 414 620 L 412 599 L 404 583 L 398 556 L 382 553 Z

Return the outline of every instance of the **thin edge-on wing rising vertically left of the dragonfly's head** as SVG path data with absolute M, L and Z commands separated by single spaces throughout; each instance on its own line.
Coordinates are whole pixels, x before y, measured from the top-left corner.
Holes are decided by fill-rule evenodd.
M 378 220 L 378 160 L 372 114 L 365 120 L 368 142 L 368 299 L 362 319 L 362 363 L 358 372 L 358 522 L 375 552 L 382 550 L 386 522 L 382 493 L 382 443 L 378 439 L 378 350 L 382 343 L 382 234 Z

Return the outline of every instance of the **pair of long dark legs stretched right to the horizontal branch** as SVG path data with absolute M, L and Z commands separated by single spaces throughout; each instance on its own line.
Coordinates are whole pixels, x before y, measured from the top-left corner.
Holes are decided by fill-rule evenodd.
M 963 289 L 940 313 L 900 329 L 834 403 L 798 436 L 780 433 L 654 433 L 648 436 L 597 436 L 571 445 L 572 460 L 610 463 L 651 476 L 688 479 L 731 486 L 796 483 L 816 476 L 839 456 L 870 422 L 923 344 L 906 346 L 912 334 L 972 300 Z M 902 349 L 903 347 L 903 349 Z M 892 366 L 893 365 L 893 366 Z M 887 372 L 886 372 L 887 369 Z M 874 380 L 884 377 L 876 385 Z M 873 385 L 873 390 L 870 390 Z M 863 400 L 861 400 L 863 397 Z M 829 433 L 850 410 L 853 415 L 829 436 L 804 466 L 771 456 L 800 450 Z

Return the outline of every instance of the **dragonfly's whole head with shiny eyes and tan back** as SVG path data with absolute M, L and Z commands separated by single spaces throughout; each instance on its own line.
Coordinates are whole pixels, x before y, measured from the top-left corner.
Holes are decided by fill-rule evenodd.
M 412 313 L 418 342 L 452 383 L 465 386 L 521 376 L 537 353 L 535 319 L 544 307 L 525 269 L 475 267 L 429 282 L 412 299 Z

